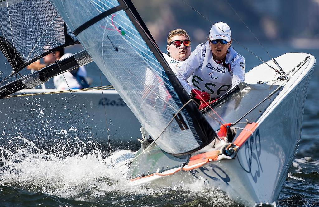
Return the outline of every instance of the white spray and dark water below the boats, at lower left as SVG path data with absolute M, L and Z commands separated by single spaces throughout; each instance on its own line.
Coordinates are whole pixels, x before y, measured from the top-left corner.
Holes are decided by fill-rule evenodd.
M 0 148 L 0 206 L 238 206 L 203 182 L 172 188 L 129 186 L 120 171 L 106 167 L 94 144 L 78 147 L 92 153 L 66 157 L 67 148 L 52 156 L 21 137 L 11 139 L 6 148 L 10 150 Z

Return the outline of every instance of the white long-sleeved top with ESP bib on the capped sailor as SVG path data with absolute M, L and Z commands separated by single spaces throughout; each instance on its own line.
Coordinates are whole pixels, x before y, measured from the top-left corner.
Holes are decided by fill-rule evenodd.
M 245 80 L 245 59 L 232 46 L 227 51 L 225 63 L 229 66 L 214 61 L 207 41 L 196 47 L 175 75 L 188 94 L 196 88 L 217 98 Z

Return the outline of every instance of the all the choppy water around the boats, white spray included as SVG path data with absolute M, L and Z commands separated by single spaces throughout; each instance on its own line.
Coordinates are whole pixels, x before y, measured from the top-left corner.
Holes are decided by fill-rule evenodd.
M 234 47 L 245 56 L 247 71 L 260 64 L 244 49 Z M 260 47 L 250 48 L 264 60 L 270 59 Z M 313 54 L 319 60 L 318 50 L 296 50 L 284 45 L 266 48 L 274 57 L 298 51 Z M 90 76 L 99 80 L 98 73 Z M 319 206 L 318 80 L 317 64 L 308 89 L 300 146 L 277 206 Z M 74 138 L 66 142 L 69 144 L 63 146 L 56 143 L 59 150 L 48 150 L 55 151 L 54 156 L 39 150 L 24 135 L 8 140 L 9 148 L 0 146 L 0 207 L 241 206 L 218 189 L 206 189 L 201 183 L 172 188 L 128 186 L 120 172 L 105 167 L 104 152 L 94 143 Z

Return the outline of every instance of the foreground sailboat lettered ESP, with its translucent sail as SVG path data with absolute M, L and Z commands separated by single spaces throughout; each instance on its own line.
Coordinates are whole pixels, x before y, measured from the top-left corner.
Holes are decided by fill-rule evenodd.
M 266 61 L 199 111 L 130 0 L 50 2 L 86 50 L 68 59 L 71 65 L 52 67 L 62 72 L 78 67 L 78 57 L 94 60 L 150 135 L 136 153 L 110 157 L 129 184 L 203 180 L 247 205 L 277 200 L 299 145 L 314 56 L 287 53 Z M 149 87 L 147 70 L 166 93 Z M 29 76 L 33 85 L 48 78 Z M 0 97 L 29 87 L 32 78 L 1 87 Z

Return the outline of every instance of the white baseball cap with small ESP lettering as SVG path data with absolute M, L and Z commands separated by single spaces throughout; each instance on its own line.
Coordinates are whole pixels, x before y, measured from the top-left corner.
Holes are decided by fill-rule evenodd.
M 218 22 L 211 26 L 211 31 L 209 32 L 209 39 L 224 39 L 230 42 L 231 33 L 229 26 L 224 22 Z

